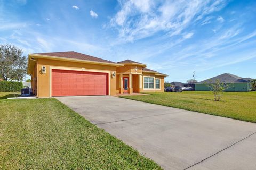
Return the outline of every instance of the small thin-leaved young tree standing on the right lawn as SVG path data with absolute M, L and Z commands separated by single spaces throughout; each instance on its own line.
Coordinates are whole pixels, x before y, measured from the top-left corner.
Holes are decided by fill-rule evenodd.
M 223 91 L 229 88 L 227 83 L 222 83 L 219 79 L 217 79 L 214 83 L 211 83 L 210 81 L 210 84 L 207 84 L 207 86 L 213 92 L 215 101 L 220 101 L 223 95 Z

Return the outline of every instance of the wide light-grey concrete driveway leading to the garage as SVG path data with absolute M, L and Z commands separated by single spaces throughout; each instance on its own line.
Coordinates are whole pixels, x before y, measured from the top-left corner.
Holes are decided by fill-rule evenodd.
M 57 97 L 164 169 L 255 169 L 256 124 L 112 96 Z

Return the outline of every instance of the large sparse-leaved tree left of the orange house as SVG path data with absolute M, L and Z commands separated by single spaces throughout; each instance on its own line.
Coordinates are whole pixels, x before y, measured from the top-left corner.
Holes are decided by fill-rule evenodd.
M 0 79 L 22 81 L 27 72 L 27 57 L 13 45 L 0 45 Z

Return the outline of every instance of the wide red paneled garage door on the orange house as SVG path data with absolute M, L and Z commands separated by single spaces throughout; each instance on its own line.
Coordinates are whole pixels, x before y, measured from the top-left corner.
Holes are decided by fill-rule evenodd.
M 52 69 L 52 96 L 108 95 L 108 73 Z

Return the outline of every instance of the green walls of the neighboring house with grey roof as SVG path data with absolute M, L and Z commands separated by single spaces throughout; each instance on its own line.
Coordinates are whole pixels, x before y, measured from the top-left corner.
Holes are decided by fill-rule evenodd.
M 225 91 L 249 91 L 250 83 L 228 84 L 229 88 Z M 195 84 L 195 91 L 210 91 L 207 84 Z

